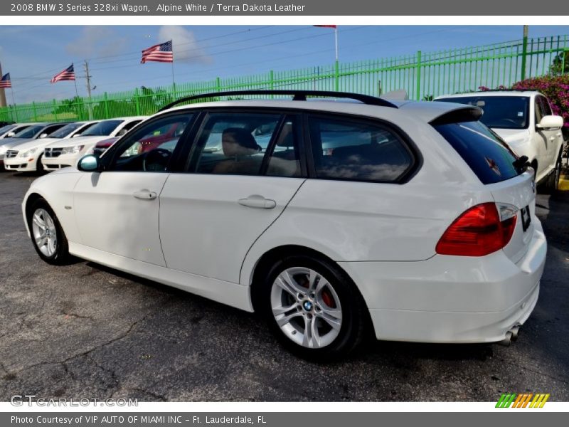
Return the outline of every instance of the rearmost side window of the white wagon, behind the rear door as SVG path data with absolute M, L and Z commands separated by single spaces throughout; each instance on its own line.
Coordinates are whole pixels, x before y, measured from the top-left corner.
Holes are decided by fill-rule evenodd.
M 336 117 L 309 122 L 317 178 L 395 182 L 413 167 L 413 154 L 387 127 Z

